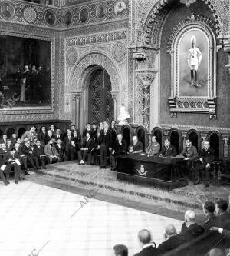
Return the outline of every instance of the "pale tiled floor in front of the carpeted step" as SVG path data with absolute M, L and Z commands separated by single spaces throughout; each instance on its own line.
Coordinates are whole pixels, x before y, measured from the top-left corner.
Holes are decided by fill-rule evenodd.
M 29 181 L 11 181 L 7 187 L 1 182 L 0 255 L 35 255 L 41 249 L 39 256 L 110 256 L 119 243 L 133 255 L 140 251 L 136 234 L 141 228 L 149 228 L 159 244 L 166 224 L 177 230 L 182 224 L 96 199 L 81 208 L 81 201 L 81 195 Z

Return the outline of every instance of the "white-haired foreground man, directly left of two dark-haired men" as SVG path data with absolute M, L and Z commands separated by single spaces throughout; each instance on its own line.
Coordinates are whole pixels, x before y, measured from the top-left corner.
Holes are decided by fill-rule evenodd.
M 186 211 L 185 222 L 181 228 L 181 238 L 183 241 L 190 241 L 204 233 L 204 228 L 195 222 L 195 212 Z

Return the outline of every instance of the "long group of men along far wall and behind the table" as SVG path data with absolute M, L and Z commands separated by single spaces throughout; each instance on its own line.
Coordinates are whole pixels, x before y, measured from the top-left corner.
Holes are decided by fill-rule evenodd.
M 110 157 L 110 168 L 112 171 L 117 169 L 117 156 L 129 154 L 138 154 L 144 151 L 143 143 L 133 136 L 130 146 L 127 145 L 123 135 L 116 133 L 115 122 L 111 125 L 107 121 L 100 122 L 97 129 L 96 124 L 87 123 L 82 135 L 75 125 L 71 125 L 71 129 L 63 134 L 60 129 L 54 129 L 54 125 L 50 125 L 48 131 L 45 127 L 41 127 L 41 131 L 37 134 L 35 126 L 30 131 L 25 131 L 21 139 L 15 134 L 12 138 L 3 135 L 0 140 L 0 154 L 4 155 L 15 148 L 16 155 L 19 155 L 19 161 L 28 175 L 28 162 L 35 168 L 45 168 L 49 163 L 58 161 L 70 161 L 78 158 L 79 164 L 87 165 L 97 164 L 97 156 L 100 155 L 100 167 L 107 167 L 107 157 Z M 149 147 L 146 149 L 149 155 L 159 155 L 164 157 L 175 157 L 177 155 L 176 148 L 168 139 L 164 141 L 162 150 L 160 151 L 159 142 L 156 137 L 152 137 Z M 200 158 L 197 149 L 192 145 L 191 141 L 186 141 L 186 149 L 181 155 L 188 160 L 199 159 L 199 166 L 195 171 L 195 184 L 200 182 L 200 171 L 205 169 L 205 185 L 209 186 L 210 166 L 214 158 L 214 151 L 210 148 L 209 141 L 205 141 L 204 148 Z M 191 161 L 188 161 L 188 170 Z

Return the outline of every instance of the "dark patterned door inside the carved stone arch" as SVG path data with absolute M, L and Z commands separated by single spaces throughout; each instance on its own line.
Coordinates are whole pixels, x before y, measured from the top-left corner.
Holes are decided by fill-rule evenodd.
M 99 124 L 100 121 L 114 119 L 113 97 L 111 95 L 110 75 L 104 68 L 97 68 L 89 82 L 88 120 Z

